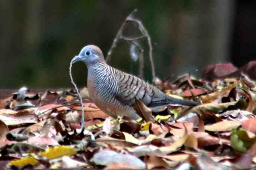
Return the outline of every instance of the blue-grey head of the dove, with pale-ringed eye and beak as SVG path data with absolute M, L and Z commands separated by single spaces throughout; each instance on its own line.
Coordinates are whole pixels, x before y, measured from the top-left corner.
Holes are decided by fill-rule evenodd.
M 87 66 L 95 65 L 99 62 L 104 62 L 104 56 L 99 47 L 94 45 L 85 46 L 79 53 L 72 59 L 72 64 L 78 61 L 84 62 Z

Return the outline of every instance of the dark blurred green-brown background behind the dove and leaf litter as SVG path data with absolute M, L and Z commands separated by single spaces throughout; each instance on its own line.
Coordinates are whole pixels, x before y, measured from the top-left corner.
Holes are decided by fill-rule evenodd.
M 242 66 L 255 50 L 254 1 L 239 0 L 1 0 L 0 88 L 72 87 L 69 64 L 88 44 L 106 56 L 125 18 L 135 9 L 153 44 L 156 75 L 175 79 L 184 73 L 201 76 L 204 66 L 232 62 Z M 127 27 L 126 34 L 138 34 Z M 148 46 L 144 77 L 151 81 Z M 138 75 L 130 45 L 120 43 L 110 65 Z M 86 85 L 87 69 L 73 65 L 78 86 Z

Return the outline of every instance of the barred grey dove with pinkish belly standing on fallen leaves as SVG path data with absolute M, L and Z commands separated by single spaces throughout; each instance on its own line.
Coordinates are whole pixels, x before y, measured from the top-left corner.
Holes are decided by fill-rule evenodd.
M 82 61 L 88 69 L 89 97 L 107 115 L 118 118 L 138 119 L 134 102 L 143 102 L 152 111 L 168 105 L 196 106 L 200 103 L 166 95 L 150 83 L 108 65 L 101 49 L 87 45 L 76 55 L 71 64 Z

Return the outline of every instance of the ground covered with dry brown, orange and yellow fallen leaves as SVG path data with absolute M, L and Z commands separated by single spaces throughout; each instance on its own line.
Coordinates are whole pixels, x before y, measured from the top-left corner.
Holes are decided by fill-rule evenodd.
M 154 84 L 168 95 L 202 104 L 152 113 L 137 101 L 143 119 L 114 120 L 84 88 L 81 130 L 81 105 L 73 89 L 21 88 L 2 95 L 1 169 L 255 168 L 255 81 L 243 74 L 212 81 L 184 75 L 174 82 L 156 78 Z

